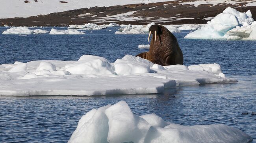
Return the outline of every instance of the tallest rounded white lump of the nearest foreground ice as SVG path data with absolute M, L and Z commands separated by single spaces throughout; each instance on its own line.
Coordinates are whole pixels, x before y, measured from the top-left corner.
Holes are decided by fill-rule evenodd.
M 108 117 L 107 140 L 110 143 L 142 142 L 150 127 L 143 118 L 134 116 L 125 101 L 112 105 L 106 109 L 105 114 Z

